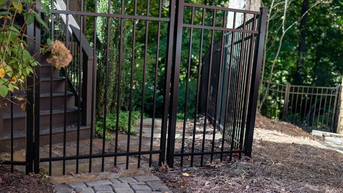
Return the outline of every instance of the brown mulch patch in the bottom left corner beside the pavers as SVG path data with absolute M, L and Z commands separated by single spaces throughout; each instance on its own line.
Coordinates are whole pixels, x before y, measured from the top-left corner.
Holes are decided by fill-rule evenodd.
M 10 166 L 0 165 L 0 193 L 52 193 L 52 185 L 42 175 L 25 175 Z

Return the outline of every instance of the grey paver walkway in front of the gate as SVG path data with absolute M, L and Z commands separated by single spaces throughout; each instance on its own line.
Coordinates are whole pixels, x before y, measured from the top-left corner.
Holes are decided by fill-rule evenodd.
M 56 193 L 172 193 L 156 176 L 55 185 Z

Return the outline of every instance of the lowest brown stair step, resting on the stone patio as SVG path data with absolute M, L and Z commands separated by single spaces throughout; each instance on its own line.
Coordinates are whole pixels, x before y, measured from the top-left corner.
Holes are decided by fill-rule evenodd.
M 76 141 L 77 125 L 67 125 L 67 143 Z M 52 128 L 52 144 L 63 143 L 64 127 Z M 50 128 L 41 128 L 39 130 L 39 145 L 49 145 Z M 20 150 L 25 147 L 26 133 L 23 130 L 13 131 L 13 149 Z M 80 125 L 80 140 L 90 139 L 90 127 Z M 10 131 L 4 132 L 4 136 L 0 138 L 0 152 L 7 152 L 11 149 L 11 133 Z

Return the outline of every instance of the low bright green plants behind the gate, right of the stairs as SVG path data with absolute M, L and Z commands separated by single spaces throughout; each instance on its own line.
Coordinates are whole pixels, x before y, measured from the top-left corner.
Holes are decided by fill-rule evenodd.
M 134 126 L 137 125 L 137 119 L 141 118 L 141 112 L 132 111 L 131 113 L 131 123 L 130 123 L 130 134 L 137 135 L 134 131 Z M 118 129 L 128 133 L 129 124 L 129 111 L 119 111 L 118 118 Z M 113 140 L 113 136 L 109 135 L 110 132 L 116 131 L 117 128 L 117 114 L 107 114 L 106 116 L 106 140 Z M 95 130 L 99 137 L 103 137 L 104 121 L 99 120 L 95 123 Z

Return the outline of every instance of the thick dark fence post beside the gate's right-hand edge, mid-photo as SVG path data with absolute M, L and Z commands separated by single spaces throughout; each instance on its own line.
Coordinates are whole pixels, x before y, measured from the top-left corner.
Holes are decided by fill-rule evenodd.
M 170 108 L 167 141 L 167 163 L 169 167 L 174 166 L 174 148 L 176 132 L 176 114 L 179 94 L 181 46 L 182 46 L 182 22 L 184 20 L 184 0 L 176 1 L 173 66 L 171 70 Z M 170 29 L 171 30 L 171 29 Z

